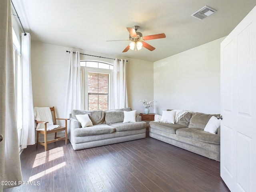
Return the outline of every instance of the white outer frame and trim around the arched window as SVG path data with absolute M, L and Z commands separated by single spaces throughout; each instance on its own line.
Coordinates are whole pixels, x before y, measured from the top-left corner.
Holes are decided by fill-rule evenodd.
M 113 66 L 113 64 L 103 61 L 95 60 L 81 60 L 80 62 L 99 62 Z M 112 109 L 114 104 L 113 99 L 113 70 L 112 69 L 101 69 L 101 68 L 92 68 L 92 67 L 80 67 L 81 70 L 81 86 L 82 86 L 82 106 L 85 110 L 88 110 L 88 73 L 102 73 L 108 74 L 108 109 Z

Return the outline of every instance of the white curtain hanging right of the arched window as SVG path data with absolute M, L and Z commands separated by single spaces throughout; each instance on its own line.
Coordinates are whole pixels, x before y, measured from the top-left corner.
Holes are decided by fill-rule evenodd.
M 114 60 L 114 109 L 128 107 L 126 87 L 126 60 Z

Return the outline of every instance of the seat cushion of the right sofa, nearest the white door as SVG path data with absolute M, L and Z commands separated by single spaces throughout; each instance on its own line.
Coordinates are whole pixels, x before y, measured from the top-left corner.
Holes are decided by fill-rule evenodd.
M 220 135 L 211 134 L 206 132 L 200 128 L 182 128 L 176 130 L 176 135 L 191 138 L 194 140 L 206 142 L 206 143 L 213 143 L 213 144 L 220 144 Z

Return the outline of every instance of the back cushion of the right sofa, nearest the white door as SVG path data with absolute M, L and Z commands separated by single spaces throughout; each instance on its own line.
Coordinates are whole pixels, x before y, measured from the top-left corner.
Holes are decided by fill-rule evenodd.
M 208 121 L 212 116 L 220 116 L 220 114 L 204 114 L 204 113 L 194 113 L 189 122 L 189 128 L 200 128 L 204 129 Z

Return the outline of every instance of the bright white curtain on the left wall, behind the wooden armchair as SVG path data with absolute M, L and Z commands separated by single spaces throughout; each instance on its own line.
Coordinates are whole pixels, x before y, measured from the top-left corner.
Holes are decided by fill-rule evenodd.
M 35 121 L 32 94 L 30 34 L 22 33 L 21 64 L 22 64 L 22 136 L 21 148 L 35 144 Z

